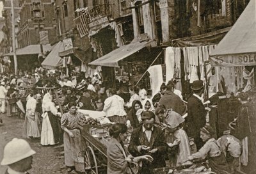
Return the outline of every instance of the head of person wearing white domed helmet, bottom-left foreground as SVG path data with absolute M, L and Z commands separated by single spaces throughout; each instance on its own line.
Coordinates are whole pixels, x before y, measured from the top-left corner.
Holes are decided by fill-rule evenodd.
M 32 168 L 33 155 L 36 152 L 31 149 L 24 139 L 13 138 L 4 147 L 2 166 L 8 166 L 5 174 L 28 174 Z

